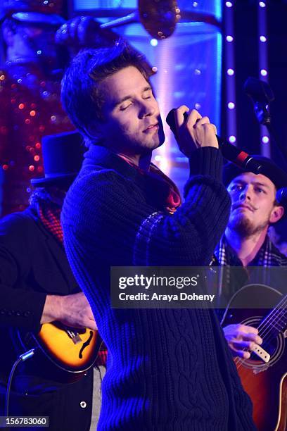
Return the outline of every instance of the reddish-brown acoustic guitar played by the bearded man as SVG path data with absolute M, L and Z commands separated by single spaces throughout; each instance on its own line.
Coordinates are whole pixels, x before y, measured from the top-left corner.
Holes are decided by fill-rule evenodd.
M 243 304 L 250 308 L 236 308 Z M 259 431 L 286 431 L 287 295 L 265 285 L 242 287 L 222 318 L 222 327 L 234 323 L 257 327 L 263 339 L 249 359 L 235 359 L 242 385 L 253 401 L 255 425 Z

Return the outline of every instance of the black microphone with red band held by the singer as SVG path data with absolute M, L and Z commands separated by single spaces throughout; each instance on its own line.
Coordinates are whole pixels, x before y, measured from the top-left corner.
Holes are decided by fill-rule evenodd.
M 167 114 L 167 124 L 170 126 L 175 137 L 177 137 L 177 129 L 174 120 L 174 111 L 173 108 Z M 187 112 L 184 113 L 184 119 L 186 120 L 189 114 Z M 245 153 L 241 149 L 238 149 L 236 146 L 229 144 L 229 142 L 224 141 L 221 137 L 216 135 L 219 149 L 222 151 L 222 156 L 227 158 L 227 160 L 235 163 L 239 166 L 239 168 L 247 169 L 250 172 L 258 174 L 262 171 L 262 163 L 260 161 L 255 160 L 252 156 Z

